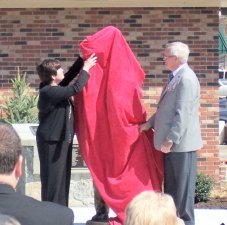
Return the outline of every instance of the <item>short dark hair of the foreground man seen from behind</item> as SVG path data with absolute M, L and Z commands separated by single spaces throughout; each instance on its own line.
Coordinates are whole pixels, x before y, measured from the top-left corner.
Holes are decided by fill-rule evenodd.
M 0 174 L 13 172 L 21 154 L 21 140 L 13 126 L 0 122 Z

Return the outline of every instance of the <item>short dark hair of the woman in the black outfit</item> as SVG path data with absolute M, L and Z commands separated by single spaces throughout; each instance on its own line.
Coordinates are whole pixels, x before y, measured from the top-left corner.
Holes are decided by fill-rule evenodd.
M 57 70 L 61 68 L 60 61 L 57 59 L 44 59 L 41 64 L 36 67 L 41 82 L 50 84 L 52 76 L 57 75 Z

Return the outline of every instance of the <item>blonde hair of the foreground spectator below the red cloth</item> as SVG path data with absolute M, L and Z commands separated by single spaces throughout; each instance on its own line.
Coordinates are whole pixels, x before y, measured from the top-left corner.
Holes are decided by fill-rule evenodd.
M 168 194 L 144 191 L 126 208 L 124 225 L 177 225 L 173 198 Z

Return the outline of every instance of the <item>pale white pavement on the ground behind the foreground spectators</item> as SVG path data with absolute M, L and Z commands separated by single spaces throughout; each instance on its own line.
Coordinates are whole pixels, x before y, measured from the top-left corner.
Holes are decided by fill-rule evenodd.
M 83 225 L 95 215 L 94 207 L 75 207 L 72 208 L 75 225 Z M 113 211 L 109 213 L 114 217 Z M 227 210 L 225 209 L 195 209 L 195 225 L 227 225 Z

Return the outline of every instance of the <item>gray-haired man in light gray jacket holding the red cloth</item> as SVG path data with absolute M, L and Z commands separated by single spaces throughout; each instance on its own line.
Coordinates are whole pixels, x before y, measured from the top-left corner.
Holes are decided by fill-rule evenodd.
M 189 48 L 166 45 L 163 60 L 171 70 L 155 114 L 140 126 L 154 128 L 154 146 L 164 153 L 164 192 L 172 195 L 178 216 L 194 225 L 196 150 L 202 147 L 199 122 L 200 84 L 188 66 Z

